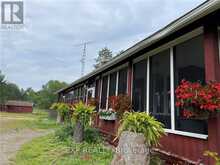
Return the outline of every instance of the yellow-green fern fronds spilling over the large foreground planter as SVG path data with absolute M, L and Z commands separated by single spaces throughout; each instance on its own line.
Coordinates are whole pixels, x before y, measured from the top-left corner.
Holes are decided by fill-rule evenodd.
M 125 112 L 118 136 L 123 131 L 143 133 L 150 147 L 158 145 L 160 138 L 165 134 L 163 124 L 145 112 Z

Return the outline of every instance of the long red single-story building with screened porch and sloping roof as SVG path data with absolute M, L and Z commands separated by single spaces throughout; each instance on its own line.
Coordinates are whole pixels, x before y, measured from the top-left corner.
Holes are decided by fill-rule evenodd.
M 58 92 L 59 101 L 94 97 L 101 110 L 108 109 L 109 96 L 127 94 L 134 111 L 164 123 L 167 136 L 158 152 L 191 164 L 213 164 L 203 152 L 220 153 L 220 116 L 183 118 L 175 107 L 175 89 L 182 79 L 220 82 L 220 0 L 204 2 L 74 81 Z M 117 131 L 117 121 L 97 118 L 95 126 L 112 137 Z

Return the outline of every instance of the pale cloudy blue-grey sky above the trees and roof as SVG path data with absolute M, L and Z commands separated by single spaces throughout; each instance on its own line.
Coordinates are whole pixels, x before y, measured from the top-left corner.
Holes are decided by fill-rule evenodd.
M 0 0 L 1 1 L 1 0 Z M 204 0 L 25 0 L 24 29 L 0 30 L 0 70 L 20 88 L 49 80 L 71 83 L 85 74 L 103 47 L 126 50 Z

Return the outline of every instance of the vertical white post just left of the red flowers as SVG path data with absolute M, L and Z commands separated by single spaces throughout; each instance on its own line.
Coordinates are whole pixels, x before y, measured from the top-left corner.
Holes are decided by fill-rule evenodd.
M 174 95 L 174 52 L 170 48 L 170 108 L 171 108 L 171 129 L 175 130 L 175 95 Z

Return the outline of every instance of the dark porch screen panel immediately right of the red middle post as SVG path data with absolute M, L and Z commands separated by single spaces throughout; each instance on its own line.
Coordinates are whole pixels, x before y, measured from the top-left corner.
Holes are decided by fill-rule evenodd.
M 146 77 L 147 61 L 143 60 L 133 65 L 133 108 L 135 111 L 146 110 Z

